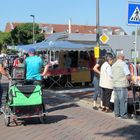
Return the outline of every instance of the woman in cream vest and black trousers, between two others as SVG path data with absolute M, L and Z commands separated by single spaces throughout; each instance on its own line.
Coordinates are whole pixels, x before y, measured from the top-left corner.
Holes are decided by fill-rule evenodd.
M 113 56 L 108 55 L 106 56 L 106 61 L 101 66 L 100 71 L 100 87 L 103 90 L 103 106 L 104 108 L 102 111 L 106 113 L 112 112 L 111 105 L 110 105 L 110 98 L 111 93 L 113 91 L 113 84 L 112 84 L 112 72 L 111 72 L 111 65 L 113 63 Z

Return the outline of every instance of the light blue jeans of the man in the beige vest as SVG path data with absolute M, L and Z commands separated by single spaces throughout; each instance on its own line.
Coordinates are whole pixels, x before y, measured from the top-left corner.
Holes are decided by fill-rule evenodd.
M 114 113 L 115 116 L 127 116 L 127 96 L 128 90 L 126 87 L 114 88 Z

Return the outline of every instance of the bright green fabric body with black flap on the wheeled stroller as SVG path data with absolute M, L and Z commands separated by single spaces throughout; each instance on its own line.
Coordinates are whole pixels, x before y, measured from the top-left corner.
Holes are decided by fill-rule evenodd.
M 8 96 L 10 106 L 42 104 L 42 91 L 39 85 L 10 86 Z

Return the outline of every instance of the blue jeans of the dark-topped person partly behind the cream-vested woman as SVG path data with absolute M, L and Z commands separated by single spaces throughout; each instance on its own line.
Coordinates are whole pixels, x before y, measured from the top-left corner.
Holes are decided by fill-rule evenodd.
M 94 85 L 93 100 L 96 101 L 98 96 L 100 96 L 100 98 L 102 100 L 102 88 L 99 87 L 99 77 L 94 76 L 93 85 Z

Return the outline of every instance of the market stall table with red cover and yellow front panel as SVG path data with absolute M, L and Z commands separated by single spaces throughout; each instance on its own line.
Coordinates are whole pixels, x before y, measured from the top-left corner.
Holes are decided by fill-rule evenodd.
M 89 69 L 80 69 L 80 68 L 57 68 L 50 69 L 47 71 L 44 78 L 50 78 L 53 82 L 49 88 L 57 85 L 61 88 L 63 87 L 73 87 L 73 83 L 84 83 L 91 81 L 91 74 Z M 65 81 L 63 78 L 66 78 L 66 83 L 62 85 L 60 81 Z

